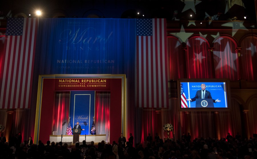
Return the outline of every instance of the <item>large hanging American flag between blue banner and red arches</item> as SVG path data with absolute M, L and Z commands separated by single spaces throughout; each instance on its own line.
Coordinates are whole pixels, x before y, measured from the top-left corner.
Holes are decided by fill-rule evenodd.
M 166 19 L 136 19 L 136 104 L 168 108 Z

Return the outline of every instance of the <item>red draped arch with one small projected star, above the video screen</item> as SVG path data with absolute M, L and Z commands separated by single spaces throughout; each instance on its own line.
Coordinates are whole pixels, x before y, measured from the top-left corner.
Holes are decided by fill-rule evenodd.
M 201 37 L 192 37 L 186 43 L 188 78 L 213 78 L 209 43 Z

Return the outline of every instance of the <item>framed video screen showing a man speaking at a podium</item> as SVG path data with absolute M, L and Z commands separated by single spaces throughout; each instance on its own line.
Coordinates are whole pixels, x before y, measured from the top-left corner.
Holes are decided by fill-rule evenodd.
M 215 79 L 216 80 L 216 79 Z M 228 109 L 228 81 L 178 81 L 180 109 Z M 179 88 L 178 88 L 179 89 Z

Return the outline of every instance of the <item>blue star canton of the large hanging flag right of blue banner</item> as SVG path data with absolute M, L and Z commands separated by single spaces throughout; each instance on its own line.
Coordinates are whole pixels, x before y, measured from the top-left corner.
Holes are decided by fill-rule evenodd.
M 152 36 L 152 19 L 136 19 L 136 35 Z

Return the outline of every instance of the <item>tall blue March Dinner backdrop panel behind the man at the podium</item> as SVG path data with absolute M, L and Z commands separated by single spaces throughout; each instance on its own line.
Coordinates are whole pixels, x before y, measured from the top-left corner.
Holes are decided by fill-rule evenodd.
M 69 114 L 71 127 L 79 122 L 81 129 L 85 129 L 85 131 L 81 131 L 81 135 L 90 135 L 90 128 L 95 116 L 95 91 L 71 91 Z

